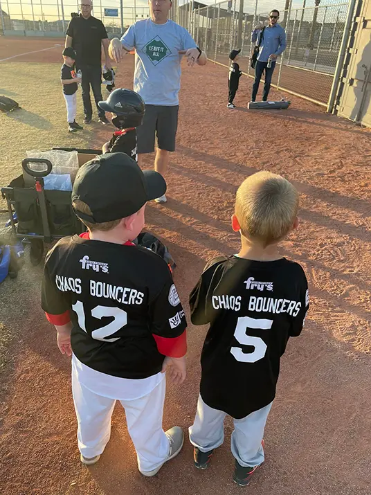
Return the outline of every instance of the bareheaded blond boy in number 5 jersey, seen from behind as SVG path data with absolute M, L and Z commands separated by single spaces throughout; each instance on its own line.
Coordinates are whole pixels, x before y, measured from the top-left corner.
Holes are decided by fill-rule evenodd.
M 190 442 L 206 469 L 233 417 L 233 480 L 248 485 L 264 462 L 264 426 L 275 397 L 280 358 L 302 331 L 309 308 L 300 264 L 278 243 L 298 226 L 298 192 L 283 177 L 257 172 L 237 191 L 233 231 L 238 254 L 210 260 L 190 294 L 194 325 L 210 324 L 201 354 L 201 391 Z

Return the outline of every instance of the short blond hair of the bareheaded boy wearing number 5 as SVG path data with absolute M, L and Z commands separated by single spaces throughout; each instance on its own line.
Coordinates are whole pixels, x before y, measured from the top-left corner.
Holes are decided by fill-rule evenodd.
M 266 247 L 293 228 L 298 206 L 298 191 L 287 179 L 271 172 L 257 172 L 239 186 L 235 215 L 242 235 L 260 240 Z

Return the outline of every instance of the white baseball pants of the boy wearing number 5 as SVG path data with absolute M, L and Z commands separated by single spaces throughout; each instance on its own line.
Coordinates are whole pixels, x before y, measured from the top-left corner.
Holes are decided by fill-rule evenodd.
M 255 467 L 264 462 L 262 440 L 272 404 L 273 402 L 259 411 L 254 411 L 242 420 L 233 420 L 235 429 L 230 444 L 233 457 L 240 466 Z M 209 407 L 200 395 L 194 424 L 189 429 L 191 444 L 201 452 L 220 447 L 224 442 L 225 417 L 226 413 Z

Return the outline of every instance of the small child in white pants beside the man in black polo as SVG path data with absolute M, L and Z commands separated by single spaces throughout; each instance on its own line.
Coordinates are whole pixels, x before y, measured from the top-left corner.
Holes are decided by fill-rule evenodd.
M 75 50 L 68 46 L 64 48 L 62 55 L 64 64 L 62 65 L 60 78 L 63 84 L 64 100 L 66 100 L 67 122 L 69 123 L 69 132 L 76 132 L 79 129 L 83 129 L 75 120 L 78 107 L 78 83 L 81 82 L 81 78 L 78 78 L 75 73 Z

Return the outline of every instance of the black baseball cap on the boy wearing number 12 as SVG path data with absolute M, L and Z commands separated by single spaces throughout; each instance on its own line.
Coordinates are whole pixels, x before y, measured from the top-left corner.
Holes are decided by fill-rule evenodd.
M 133 215 L 165 192 L 166 182 L 159 172 L 142 171 L 125 153 L 106 153 L 80 167 L 72 201 L 80 199 L 91 209 L 92 215 L 75 210 L 80 219 L 102 224 Z

